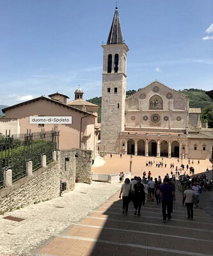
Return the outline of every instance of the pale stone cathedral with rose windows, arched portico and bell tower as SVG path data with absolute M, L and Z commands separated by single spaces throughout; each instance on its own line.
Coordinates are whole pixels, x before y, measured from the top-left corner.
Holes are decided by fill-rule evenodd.
M 126 99 L 129 48 L 122 36 L 118 8 L 104 49 L 100 151 L 141 156 L 212 158 L 212 129 L 200 108 L 154 81 Z

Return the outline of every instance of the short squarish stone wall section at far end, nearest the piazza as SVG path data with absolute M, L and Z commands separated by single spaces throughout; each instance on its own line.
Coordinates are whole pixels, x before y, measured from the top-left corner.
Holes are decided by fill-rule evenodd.
M 76 161 L 76 179 L 78 182 L 91 184 L 91 150 L 79 150 L 75 149 L 77 157 Z

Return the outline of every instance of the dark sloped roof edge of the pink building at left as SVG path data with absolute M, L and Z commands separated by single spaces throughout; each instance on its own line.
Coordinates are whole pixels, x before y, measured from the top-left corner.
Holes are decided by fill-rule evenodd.
M 84 115 L 91 115 L 91 116 L 95 116 L 95 115 L 92 115 L 91 113 L 88 113 L 86 111 L 83 111 L 81 109 L 78 109 L 78 108 L 74 108 L 72 106 L 68 106 L 67 104 L 64 104 L 62 102 L 59 102 L 58 100 L 54 100 L 52 98 L 49 98 L 49 97 L 46 97 L 46 96 L 40 96 L 38 98 L 35 98 L 35 99 L 32 99 L 32 100 L 27 100 L 25 102 L 21 102 L 19 104 L 15 104 L 13 106 L 10 106 L 10 107 L 7 107 L 7 108 L 4 108 L 2 109 L 3 113 L 5 113 L 6 111 L 8 111 L 9 109 L 13 109 L 13 108 L 19 108 L 20 106 L 24 106 L 24 105 L 27 105 L 27 104 L 30 104 L 32 102 L 35 102 L 35 101 L 38 101 L 38 100 L 47 100 L 47 101 L 50 101 L 50 102 L 54 102 L 54 104 L 58 104 L 59 106 L 63 106 L 63 108 L 70 108 L 74 111 L 77 111 L 79 113 L 83 113 Z M 97 116 L 95 116 L 97 117 Z

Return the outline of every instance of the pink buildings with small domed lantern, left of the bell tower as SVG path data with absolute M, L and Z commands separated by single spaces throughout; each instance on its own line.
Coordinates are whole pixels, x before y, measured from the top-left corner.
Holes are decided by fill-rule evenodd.
M 79 89 L 77 89 L 79 90 Z M 58 124 L 59 149 L 81 148 L 92 150 L 93 159 L 97 155 L 98 137 L 97 111 L 99 106 L 83 100 L 83 91 L 75 91 L 75 100 L 67 102 L 69 97 L 61 93 L 52 93 L 49 97 L 21 102 L 3 109 L 5 118 L 0 119 L 0 132 L 6 129 L 11 134 L 40 132 L 41 128 L 51 131 L 53 124 L 29 124 L 29 116 L 72 116 L 72 124 Z M 76 95 L 82 95 L 81 99 Z M 80 104 L 79 104 L 80 103 Z

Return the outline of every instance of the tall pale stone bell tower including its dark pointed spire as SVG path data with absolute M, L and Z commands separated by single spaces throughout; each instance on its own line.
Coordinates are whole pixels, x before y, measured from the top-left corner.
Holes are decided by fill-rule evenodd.
M 120 26 L 118 7 L 104 49 L 102 72 L 102 110 L 100 152 L 118 153 L 119 133 L 124 131 L 126 97 L 126 63 L 129 48 Z

